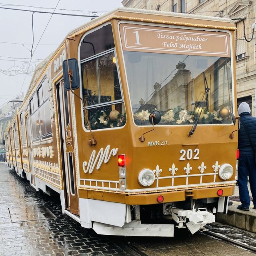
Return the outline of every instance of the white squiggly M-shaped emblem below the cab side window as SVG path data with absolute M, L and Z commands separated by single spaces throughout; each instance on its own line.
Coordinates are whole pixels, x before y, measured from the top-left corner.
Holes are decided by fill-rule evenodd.
M 90 156 L 89 162 L 88 163 L 86 161 L 83 162 L 84 172 L 87 173 L 89 171 L 89 173 L 92 173 L 96 166 L 97 161 L 98 161 L 98 164 L 96 166 L 96 169 L 99 170 L 100 166 L 103 163 L 103 160 L 104 160 L 104 163 L 106 164 L 110 160 L 110 157 L 115 156 L 117 154 L 117 152 L 118 152 L 118 148 L 112 148 L 110 150 L 110 145 L 108 145 L 108 146 L 106 146 L 105 150 L 103 150 L 103 148 L 101 148 L 100 151 L 98 152 L 97 156 L 95 157 L 96 150 L 93 150 L 92 154 Z M 87 166 L 87 168 L 86 168 L 86 166 Z

